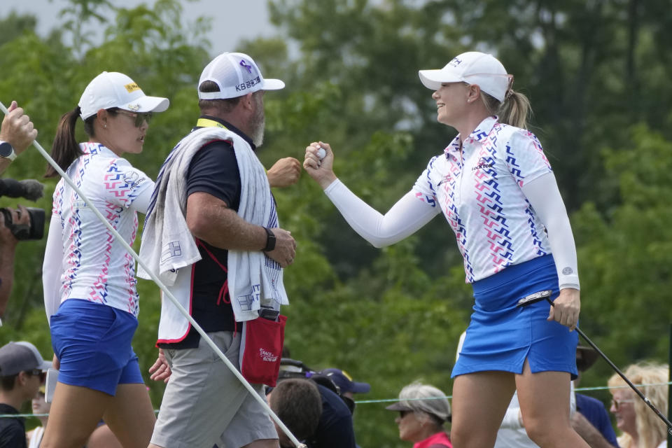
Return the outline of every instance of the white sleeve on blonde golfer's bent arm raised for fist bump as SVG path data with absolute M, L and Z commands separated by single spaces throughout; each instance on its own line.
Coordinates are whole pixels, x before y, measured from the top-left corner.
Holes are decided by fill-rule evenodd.
M 375 247 L 389 246 L 401 241 L 440 213 L 438 207 L 431 207 L 409 192 L 383 216 L 360 200 L 338 179 L 330 183 L 324 193 L 350 227 Z

